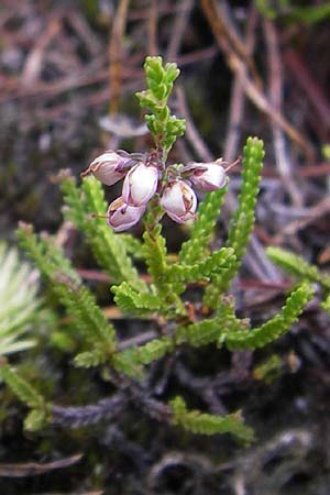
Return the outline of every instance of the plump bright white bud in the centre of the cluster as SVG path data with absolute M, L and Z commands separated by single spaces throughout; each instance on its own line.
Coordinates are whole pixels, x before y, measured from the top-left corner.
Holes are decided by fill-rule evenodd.
M 156 193 L 158 169 L 154 165 L 139 163 L 125 176 L 122 198 L 128 205 L 145 205 Z

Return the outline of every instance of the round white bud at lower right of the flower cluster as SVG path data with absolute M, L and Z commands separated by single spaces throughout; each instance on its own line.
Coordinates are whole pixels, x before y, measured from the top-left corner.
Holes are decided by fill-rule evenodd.
M 172 220 L 184 223 L 195 218 L 197 198 L 188 184 L 176 180 L 165 187 L 161 205 Z

